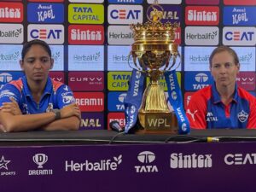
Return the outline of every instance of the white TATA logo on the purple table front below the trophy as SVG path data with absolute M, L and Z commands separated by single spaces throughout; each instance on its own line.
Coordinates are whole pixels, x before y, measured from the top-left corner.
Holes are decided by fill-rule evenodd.
M 134 166 L 136 172 L 158 172 L 158 168 L 152 163 L 155 160 L 155 154 L 151 151 L 143 151 L 137 155 L 137 160 L 142 164 Z

